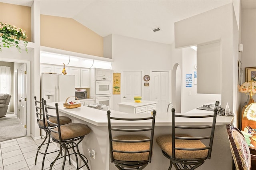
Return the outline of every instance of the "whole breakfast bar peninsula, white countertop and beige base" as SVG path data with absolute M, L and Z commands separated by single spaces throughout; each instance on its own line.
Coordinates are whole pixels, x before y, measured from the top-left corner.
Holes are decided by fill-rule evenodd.
M 63 107 L 64 102 L 59 102 L 59 112 L 61 115 L 70 117 L 72 123 L 84 123 L 91 128 L 91 132 L 85 136 L 82 144 L 80 144 L 80 152 L 88 158 L 88 165 L 91 170 L 116 170 L 113 163 L 110 162 L 109 157 L 109 141 L 108 141 L 108 125 L 106 111 L 101 111 L 88 107 L 78 107 L 74 109 L 67 109 Z M 54 106 L 55 103 L 48 103 L 50 106 Z M 185 114 L 205 114 L 210 111 L 192 110 Z M 146 114 L 129 114 L 120 111 L 111 110 L 113 117 L 144 117 Z M 149 114 L 150 115 L 150 114 Z M 154 133 L 154 147 L 152 162 L 146 166 L 145 170 L 164 170 L 168 169 L 170 160 L 165 158 L 161 152 L 161 149 L 155 142 L 156 137 L 171 133 L 171 114 L 156 113 L 155 133 Z M 230 123 L 232 117 L 217 116 L 216 128 L 214 134 L 213 150 L 210 160 L 206 160 L 205 163 L 198 168 L 198 170 L 231 170 L 232 169 L 232 154 L 228 142 L 226 124 Z M 210 119 L 205 118 L 201 121 L 182 121 L 176 119 L 179 124 L 186 125 L 205 125 Z M 147 123 L 120 123 L 119 121 L 113 121 L 114 126 L 148 126 Z M 182 132 L 181 132 L 182 133 Z M 184 132 L 185 133 L 185 132 Z M 89 157 L 88 148 L 95 150 L 95 159 Z M 74 158 L 72 158 L 74 159 Z M 174 169 L 174 167 L 172 168 Z

